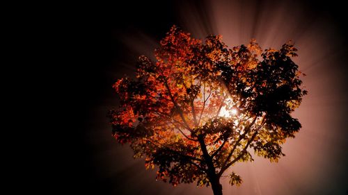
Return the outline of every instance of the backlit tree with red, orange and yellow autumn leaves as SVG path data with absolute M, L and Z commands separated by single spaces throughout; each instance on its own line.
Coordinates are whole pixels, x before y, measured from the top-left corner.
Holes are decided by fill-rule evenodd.
M 222 194 L 220 178 L 256 155 L 277 162 L 281 144 L 301 124 L 290 114 L 303 95 L 291 43 L 262 49 L 255 40 L 228 49 L 221 36 L 203 44 L 176 26 L 155 50 L 139 57 L 136 78 L 113 87 L 120 109 L 109 113 L 113 136 L 129 143 L 146 169 L 172 185 L 196 182 Z M 237 173 L 231 185 L 240 185 Z

